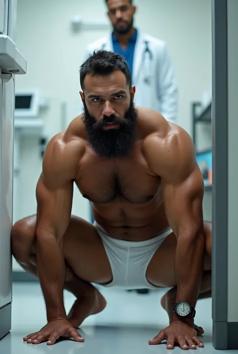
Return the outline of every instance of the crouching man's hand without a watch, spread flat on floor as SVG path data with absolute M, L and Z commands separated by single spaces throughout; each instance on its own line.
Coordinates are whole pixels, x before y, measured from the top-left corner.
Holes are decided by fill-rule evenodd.
M 59 337 L 72 337 L 77 342 L 84 339 L 77 330 L 67 321 L 67 319 L 55 319 L 47 323 L 39 332 L 29 334 L 24 337 L 24 341 L 32 344 L 39 344 L 47 340 L 47 344 L 55 344 Z

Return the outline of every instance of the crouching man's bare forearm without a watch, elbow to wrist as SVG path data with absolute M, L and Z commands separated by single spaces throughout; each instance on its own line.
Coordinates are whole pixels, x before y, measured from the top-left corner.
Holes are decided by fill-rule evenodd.
M 36 256 L 38 276 L 46 303 L 47 320 L 66 318 L 63 301 L 65 263 L 54 235 L 37 237 Z

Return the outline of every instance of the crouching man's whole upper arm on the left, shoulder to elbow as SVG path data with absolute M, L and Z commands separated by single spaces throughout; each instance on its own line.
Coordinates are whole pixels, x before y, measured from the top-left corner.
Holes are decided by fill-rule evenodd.
M 58 136 L 51 139 L 36 190 L 38 237 L 51 233 L 60 240 L 68 227 L 73 198 L 71 160 L 63 141 Z

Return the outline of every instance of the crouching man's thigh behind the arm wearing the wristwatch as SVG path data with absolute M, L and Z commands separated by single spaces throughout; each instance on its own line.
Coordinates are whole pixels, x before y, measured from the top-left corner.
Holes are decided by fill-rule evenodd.
M 210 222 L 204 222 L 205 234 L 205 254 L 204 254 L 204 271 L 211 270 L 211 241 L 212 227 Z M 158 287 L 175 287 L 175 255 L 177 248 L 177 239 L 174 233 L 171 233 L 156 251 L 147 268 L 148 281 Z

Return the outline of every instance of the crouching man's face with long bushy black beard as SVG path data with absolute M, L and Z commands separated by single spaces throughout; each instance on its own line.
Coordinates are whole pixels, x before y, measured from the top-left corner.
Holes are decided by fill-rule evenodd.
M 84 105 L 83 122 L 92 150 L 103 158 L 128 156 L 137 125 L 133 102 L 135 86 L 130 90 L 121 71 L 109 75 L 87 74 L 84 92 L 80 94 Z

